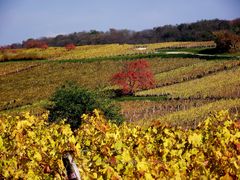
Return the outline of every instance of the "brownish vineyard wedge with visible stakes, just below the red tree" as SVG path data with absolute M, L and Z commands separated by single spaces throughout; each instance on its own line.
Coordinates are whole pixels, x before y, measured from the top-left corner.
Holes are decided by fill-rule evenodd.
M 186 111 L 193 107 L 201 107 L 211 102 L 214 102 L 214 100 L 173 99 L 168 101 L 123 101 L 119 102 L 119 104 L 121 105 L 122 114 L 125 115 L 127 122 L 141 124 L 162 116 L 165 117 L 167 114 L 172 114 L 174 112 Z M 140 119 L 142 119 L 142 121 L 140 121 Z

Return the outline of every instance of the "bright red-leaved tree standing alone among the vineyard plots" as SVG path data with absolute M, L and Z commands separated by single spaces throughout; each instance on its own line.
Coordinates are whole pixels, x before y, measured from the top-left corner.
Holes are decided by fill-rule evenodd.
M 146 60 L 126 63 L 121 72 L 112 76 L 111 81 L 120 86 L 124 94 L 155 87 L 154 76 Z

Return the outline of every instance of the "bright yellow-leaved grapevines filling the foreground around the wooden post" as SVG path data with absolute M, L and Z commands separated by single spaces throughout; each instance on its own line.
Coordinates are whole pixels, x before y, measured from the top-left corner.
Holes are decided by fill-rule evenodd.
M 95 110 L 72 132 L 47 115 L 0 119 L 0 179 L 64 179 L 71 152 L 82 179 L 240 179 L 240 120 L 227 111 L 184 130 L 116 126 Z

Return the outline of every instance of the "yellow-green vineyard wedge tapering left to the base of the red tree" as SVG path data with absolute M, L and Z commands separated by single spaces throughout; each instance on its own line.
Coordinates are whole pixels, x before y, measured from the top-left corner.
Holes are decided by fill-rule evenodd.
M 172 98 L 240 97 L 240 67 L 170 86 L 137 92 L 136 96 L 168 95 Z

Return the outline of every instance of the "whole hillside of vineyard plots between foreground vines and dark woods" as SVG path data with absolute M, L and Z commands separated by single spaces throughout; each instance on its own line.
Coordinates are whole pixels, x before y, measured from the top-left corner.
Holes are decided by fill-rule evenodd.
M 150 63 L 157 88 L 113 99 L 126 121 L 150 125 L 157 120 L 194 127 L 212 111 L 239 109 L 240 60 L 164 53 L 198 53 L 213 46 L 213 42 L 171 42 L 80 46 L 72 51 L 4 51 L 0 53 L 0 61 L 4 61 L 0 63 L 0 114 L 41 114 L 55 89 L 66 81 L 89 89 L 112 89 L 111 76 L 127 61 L 144 57 Z M 139 51 L 138 47 L 146 50 Z M 158 51 L 162 54 L 154 53 Z

